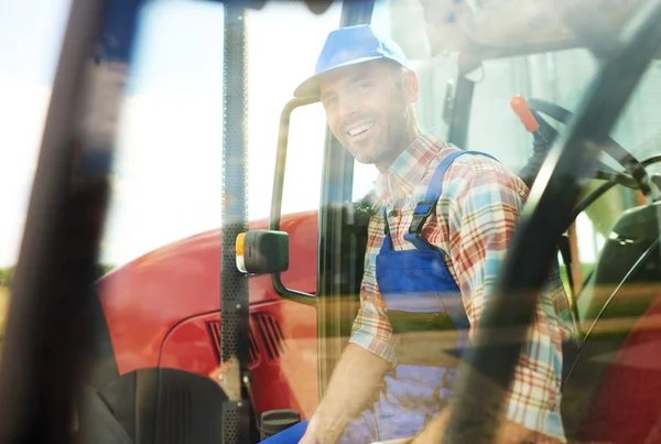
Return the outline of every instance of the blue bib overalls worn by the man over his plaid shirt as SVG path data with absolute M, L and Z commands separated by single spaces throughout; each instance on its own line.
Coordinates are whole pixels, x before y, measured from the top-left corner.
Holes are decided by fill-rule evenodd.
M 392 249 L 383 209 L 386 238 L 377 256 L 377 283 L 393 333 L 399 336 L 411 334 L 415 345 L 413 348 L 418 350 L 398 350 L 398 365 L 384 377 L 379 400 L 347 426 L 340 443 L 370 443 L 413 436 L 441 412 L 452 394 L 457 360 L 468 340 L 469 321 L 460 291 L 445 264 L 446 253 L 431 246 L 421 232 L 427 218 L 435 212 L 445 171 L 457 156 L 468 152 L 448 155 L 434 172 L 425 199 L 418 203 L 409 232 L 404 235 L 404 240 L 413 243 L 414 249 Z M 429 353 L 425 354 L 424 339 L 415 340 L 416 333 L 430 331 L 451 335 L 456 347 L 445 350 L 445 354 L 454 359 L 430 364 L 429 356 L 425 356 Z M 297 424 L 264 443 L 297 443 L 306 424 Z

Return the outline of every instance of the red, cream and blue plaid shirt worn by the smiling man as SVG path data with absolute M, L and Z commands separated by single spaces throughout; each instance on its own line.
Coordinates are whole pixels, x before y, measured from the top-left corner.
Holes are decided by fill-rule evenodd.
M 403 239 L 413 209 L 424 195 L 436 166 L 457 148 L 444 143 L 433 132 L 420 136 L 393 162 L 389 174 L 376 183 L 377 206 L 386 206 L 393 249 L 413 249 Z M 509 239 L 528 196 L 528 187 L 500 163 L 484 156 L 464 154 L 447 169 L 443 193 L 423 228 L 423 237 L 449 253 L 447 268 L 457 282 L 475 337 L 485 303 L 495 282 Z M 371 218 L 360 310 L 350 342 L 395 364 L 394 337 L 376 280 L 376 258 L 383 243 L 383 217 Z M 540 297 L 537 318 L 529 332 L 512 390 L 507 399 L 507 416 L 537 431 L 534 442 L 564 442 L 560 416 L 562 340 L 574 335 L 568 301 L 557 263 Z

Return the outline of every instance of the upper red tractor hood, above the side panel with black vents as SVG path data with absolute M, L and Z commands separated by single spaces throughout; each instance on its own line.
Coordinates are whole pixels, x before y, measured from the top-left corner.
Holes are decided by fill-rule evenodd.
M 316 293 L 317 213 L 284 216 L 290 236 L 288 288 Z M 250 224 L 266 229 L 268 220 Z M 98 294 L 120 375 L 153 367 L 167 333 L 193 316 L 220 310 L 221 230 L 163 246 L 101 278 Z M 232 245 L 230 248 L 235 248 Z M 270 275 L 250 278 L 250 304 L 280 297 Z

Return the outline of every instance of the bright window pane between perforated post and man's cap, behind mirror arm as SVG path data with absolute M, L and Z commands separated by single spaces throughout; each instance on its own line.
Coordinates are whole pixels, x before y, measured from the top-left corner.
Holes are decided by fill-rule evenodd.
M 303 2 L 267 2 L 250 17 L 251 219 L 270 213 L 282 108 L 293 98 L 294 89 L 314 74 L 326 36 L 339 24 L 340 11 L 337 1 L 319 15 L 311 13 Z M 293 112 L 282 202 L 284 214 L 318 208 L 325 131 L 325 116 L 318 104 Z

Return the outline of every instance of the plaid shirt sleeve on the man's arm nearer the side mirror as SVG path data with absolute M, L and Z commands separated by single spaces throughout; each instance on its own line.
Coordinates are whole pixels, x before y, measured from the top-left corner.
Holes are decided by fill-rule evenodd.
M 395 364 L 394 337 L 376 278 L 377 255 L 383 242 L 382 226 L 383 218 L 379 216 L 373 216 L 369 224 L 365 273 L 360 286 L 360 308 L 354 321 L 349 343 L 360 345 Z

